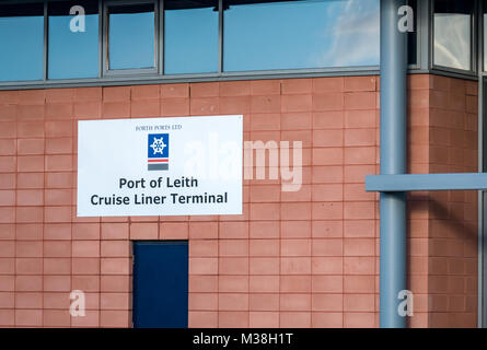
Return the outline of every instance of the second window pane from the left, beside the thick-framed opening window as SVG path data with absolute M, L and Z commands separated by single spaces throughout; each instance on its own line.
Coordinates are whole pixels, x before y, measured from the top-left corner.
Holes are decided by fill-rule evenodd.
M 84 20 L 78 21 L 80 18 L 69 13 L 72 2 L 49 3 L 49 79 L 98 75 L 98 4 L 97 1 L 77 4 L 83 7 Z

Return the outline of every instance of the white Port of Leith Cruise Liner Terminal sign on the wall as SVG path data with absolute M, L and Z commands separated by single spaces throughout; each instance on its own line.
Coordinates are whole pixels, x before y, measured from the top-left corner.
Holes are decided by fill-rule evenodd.
M 241 214 L 242 120 L 80 120 L 78 217 Z

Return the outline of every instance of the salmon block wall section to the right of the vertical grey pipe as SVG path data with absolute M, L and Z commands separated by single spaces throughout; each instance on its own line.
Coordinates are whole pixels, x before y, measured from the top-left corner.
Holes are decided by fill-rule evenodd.
M 477 172 L 477 83 L 437 75 L 414 82 L 410 171 Z M 410 284 L 418 294 L 411 325 L 476 327 L 477 194 L 409 196 Z

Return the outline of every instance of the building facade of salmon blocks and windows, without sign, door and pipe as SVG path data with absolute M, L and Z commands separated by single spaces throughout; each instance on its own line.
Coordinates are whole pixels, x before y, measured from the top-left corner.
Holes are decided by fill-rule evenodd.
M 19 2 L 0 3 L 0 326 L 137 326 L 141 242 L 187 245 L 188 327 L 379 326 L 379 0 Z M 482 172 L 484 1 L 408 5 L 408 172 Z M 241 215 L 77 217 L 79 120 L 205 115 L 301 141 L 300 189 L 245 178 Z M 485 326 L 483 207 L 408 194 L 409 327 Z

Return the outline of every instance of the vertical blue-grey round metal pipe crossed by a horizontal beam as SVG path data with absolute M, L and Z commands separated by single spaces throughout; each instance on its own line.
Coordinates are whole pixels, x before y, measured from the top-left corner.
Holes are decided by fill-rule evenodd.
M 381 175 L 407 167 L 407 33 L 398 30 L 405 0 L 381 0 Z M 406 194 L 381 192 L 380 326 L 404 328 L 398 293 L 406 290 Z

